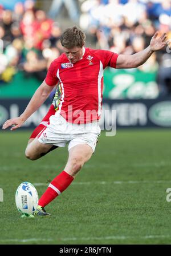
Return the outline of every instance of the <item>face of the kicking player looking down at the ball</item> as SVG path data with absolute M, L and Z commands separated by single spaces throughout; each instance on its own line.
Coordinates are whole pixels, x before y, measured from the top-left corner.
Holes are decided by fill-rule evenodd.
M 63 47 L 63 49 L 64 49 L 64 52 L 66 53 L 68 60 L 71 63 L 75 63 L 75 62 L 79 61 L 80 58 L 83 57 L 83 46 L 82 46 L 82 48 L 75 46 L 71 49 Z

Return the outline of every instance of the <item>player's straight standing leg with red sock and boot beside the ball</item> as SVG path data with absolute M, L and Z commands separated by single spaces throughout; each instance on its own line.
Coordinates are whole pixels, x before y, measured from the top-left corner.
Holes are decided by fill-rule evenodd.
M 86 163 L 92 156 L 93 149 L 87 144 L 78 144 L 72 147 L 69 151 L 68 162 L 64 171 L 62 171 L 49 184 L 47 190 L 40 197 L 38 207 L 34 215 L 49 216 L 44 207 L 60 195 L 75 178 L 75 175 L 81 170 L 84 163 Z

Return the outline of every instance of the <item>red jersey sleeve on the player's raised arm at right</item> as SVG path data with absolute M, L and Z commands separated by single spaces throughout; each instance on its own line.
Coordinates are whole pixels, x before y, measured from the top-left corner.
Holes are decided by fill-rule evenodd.
M 119 54 L 113 53 L 109 50 L 97 50 L 96 55 L 103 63 L 103 68 L 106 68 L 107 66 L 111 66 L 111 68 L 116 68 L 116 61 Z

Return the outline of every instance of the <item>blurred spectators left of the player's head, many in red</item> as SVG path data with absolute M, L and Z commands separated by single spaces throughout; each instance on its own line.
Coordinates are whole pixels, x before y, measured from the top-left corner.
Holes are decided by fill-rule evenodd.
M 59 23 L 36 9 L 34 1 L 17 2 L 14 10 L 0 6 L 1 81 L 10 81 L 18 70 L 42 81 L 62 52 L 60 34 Z

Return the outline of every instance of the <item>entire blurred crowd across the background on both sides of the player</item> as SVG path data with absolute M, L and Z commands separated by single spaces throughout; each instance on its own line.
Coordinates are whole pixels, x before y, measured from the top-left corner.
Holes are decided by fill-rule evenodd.
M 156 30 L 171 38 L 171 0 L 52 0 L 48 11 L 35 1 L 17 2 L 13 10 L 0 1 L 0 80 L 18 70 L 43 80 L 50 62 L 62 53 L 60 10 L 87 34 L 87 46 L 133 54 L 149 45 Z M 171 50 L 152 54 L 140 70 L 157 72 L 161 95 L 171 94 Z

